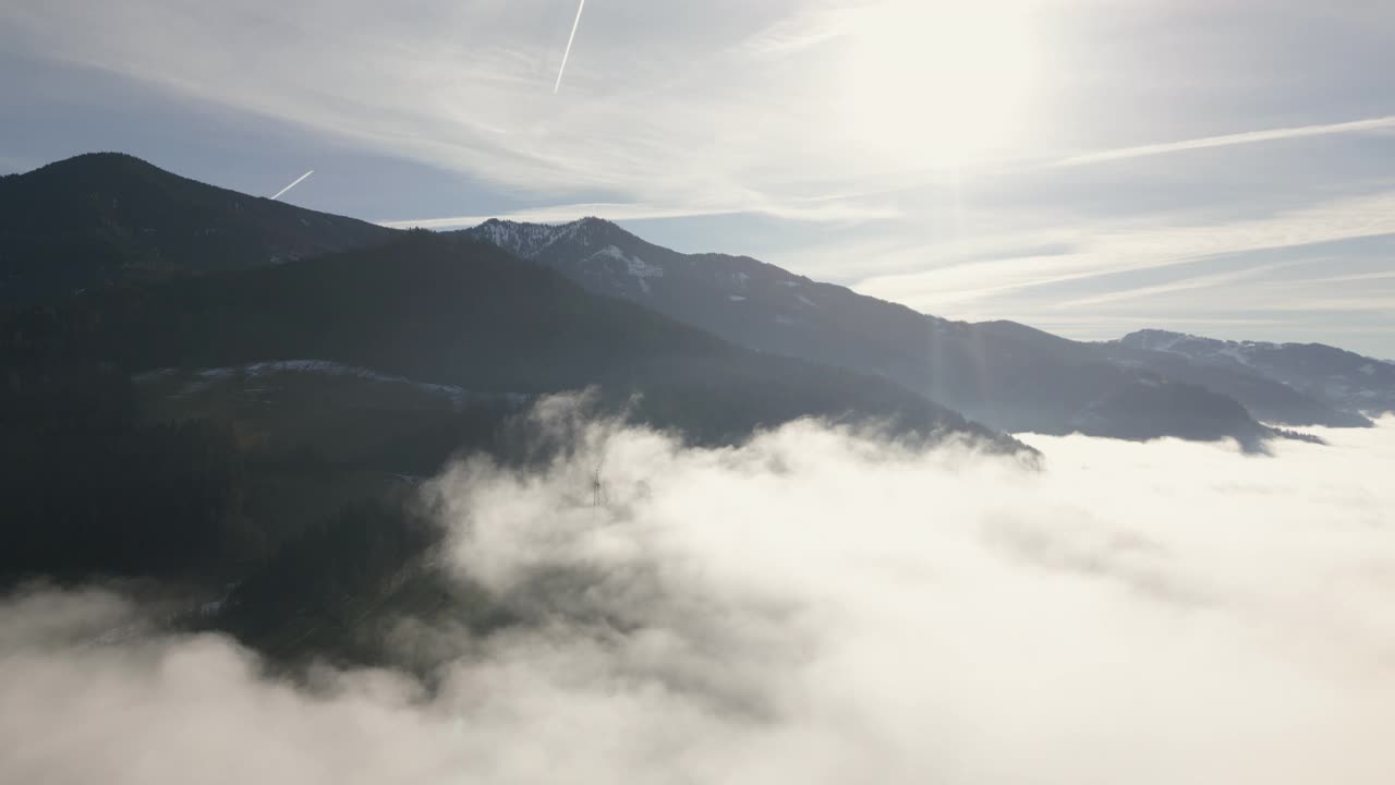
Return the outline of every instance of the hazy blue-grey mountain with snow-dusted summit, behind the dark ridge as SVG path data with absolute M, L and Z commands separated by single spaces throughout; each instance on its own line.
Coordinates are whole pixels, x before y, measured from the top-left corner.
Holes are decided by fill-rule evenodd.
M 596 218 L 558 226 L 488 221 L 465 233 L 591 292 L 770 355 L 894 380 L 1003 430 L 1233 437 L 1251 446 L 1268 433 L 1235 399 L 1112 362 L 1089 344 L 1010 321 L 925 316 L 751 257 L 677 253 Z

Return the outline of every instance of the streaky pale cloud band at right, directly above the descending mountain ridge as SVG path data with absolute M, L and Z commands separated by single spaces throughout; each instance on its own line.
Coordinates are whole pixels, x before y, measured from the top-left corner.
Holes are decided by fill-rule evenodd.
M 982 239 L 958 249 L 912 237 L 903 247 L 827 243 L 810 253 L 829 265 L 865 256 L 904 265 L 848 284 L 944 317 L 1013 318 L 1081 339 L 1186 324 L 1218 337 L 1320 341 L 1387 356 L 1395 277 L 1378 260 L 1392 242 L 1395 191 L 1384 191 L 1260 218 L 1198 212 L 1003 232 L 996 250 Z M 1057 249 L 1032 253 L 1038 244 Z M 810 274 L 798 258 L 778 261 Z M 1278 272 L 1290 264 L 1299 270 Z

